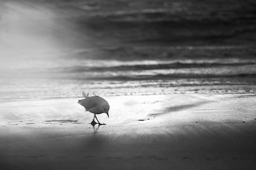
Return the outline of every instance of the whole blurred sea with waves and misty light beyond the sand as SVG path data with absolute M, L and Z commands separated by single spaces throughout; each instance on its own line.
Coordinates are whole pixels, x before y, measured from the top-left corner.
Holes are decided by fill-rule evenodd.
M 255 0 L 0 0 L 0 101 L 255 84 Z

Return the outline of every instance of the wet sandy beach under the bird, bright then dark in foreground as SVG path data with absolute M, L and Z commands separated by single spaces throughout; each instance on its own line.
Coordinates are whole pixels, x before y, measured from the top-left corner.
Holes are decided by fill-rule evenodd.
M 75 98 L 0 103 L 3 169 L 254 169 L 256 96 L 106 97 L 106 125 Z

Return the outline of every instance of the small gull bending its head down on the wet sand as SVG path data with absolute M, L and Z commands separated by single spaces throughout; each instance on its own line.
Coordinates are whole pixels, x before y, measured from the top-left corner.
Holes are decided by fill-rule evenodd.
M 95 124 L 106 125 L 105 123 L 101 124 L 98 121 L 96 115 L 99 115 L 102 113 L 106 113 L 108 115 L 108 111 L 110 109 L 108 102 L 105 99 L 103 99 L 102 97 L 97 96 L 97 95 L 89 97 L 89 93 L 87 93 L 87 95 L 86 95 L 84 92 L 82 92 L 82 95 L 84 96 L 85 99 L 78 100 L 77 103 L 82 105 L 85 108 L 85 111 L 89 111 L 90 113 L 94 114 L 91 124 L 92 125 L 95 125 Z M 94 118 L 96 118 L 98 123 L 96 123 L 94 121 Z M 108 115 L 108 118 L 109 118 L 109 115 Z

